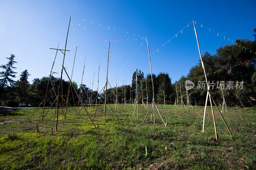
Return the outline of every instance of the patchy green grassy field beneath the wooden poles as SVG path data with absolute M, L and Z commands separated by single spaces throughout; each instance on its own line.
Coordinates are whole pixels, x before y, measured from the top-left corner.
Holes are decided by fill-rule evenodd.
M 137 110 L 127 119 L 120 108 L 115 115 L 111 107 L 107 107 L 106 121 L 102 120 L 103 105 L 98 109 L 97 129 L 86 113 L 82 115 L 84 109 L 78 114 L 80 119 L 75 107 L 68 109 L 66 120 L 60 111 L 54 135 L 55 109 L 43 121 L 42 109 L 34 114 L 33 109 L 1 112 L 0 169 L 256 169 L 256 108 L 228 107 L 228 113 L 223 113 L 233 139 L 214 109 L 216 141 L 210 107 L 204 133 L 204 107 L 158 105 L 167 127 L 156 110 L 155 124 L 150 122 L 150 110 L 141 125 L 145 115 L 140 108 L 139 119 Z M 124 108 L 127 116 L 131 110 L 130 105 Z M 93 117 L 94 111 L 88 111 Z

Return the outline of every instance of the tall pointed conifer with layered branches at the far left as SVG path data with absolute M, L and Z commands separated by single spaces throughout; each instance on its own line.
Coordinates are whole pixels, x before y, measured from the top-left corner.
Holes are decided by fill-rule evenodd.
M 1 85 L 1 89 L 0 89 L 0 96 L 4 90 L 4 88 L 8 87 L 8 84 L 11 85 L 13 84 L 15 81 L 12 78 L 15 78 L 15 74 L 16 72 L 14 72 L 12 69 L 16 69 L 16 67 L 13 67 L 13 64 L 17 63 L 16 61 L 14 61 L 14 55 L 11 54 L 10 57 L 6 57 L 9 62 L 5 65 L 1 65 L 0 68 L 2 68 L 5 71 L 1 71 L 0 72 L 0 85 Z

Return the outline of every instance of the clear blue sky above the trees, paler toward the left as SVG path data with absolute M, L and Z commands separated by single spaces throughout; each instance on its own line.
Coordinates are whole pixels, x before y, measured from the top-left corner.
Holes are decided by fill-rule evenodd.
M 150 52 L 162 46 L 192 20 L 196 28 L 201 52 L 215 54 L 220 46 L 236 39 L 254 40 L 256 27 L 256 1 L 0 1 L 0 64 L 5 64 L 10 53 L 18 63 L 14 71 L 28 70 L 28 80 L 48 76 L 58 43 L 64 49 L 69 17 L 72 16 L 68 35 L 65 67 L 71 76 L 75 47 L 77 46 L 73 80 L 81 83 L 84 57 L 83 84 L 97 86 L 98 64 L 100 63 L 100 89 L 106 81 L 108 41 L 110 44 L 109 82 L 112 86 L 131 83 L 136 67 L 146 76 L 150 72 L 146 41 L 131 58 L 142 42 L 148 38 Z M 74 20 L 75 19 L 75 20 Z M 84 21 L 83 21 L 84 20 Z M 92 22 L 94 24 L 92 24 Z M 199 24 L 200 23 L 200 24 Z M 80 24 L 80 26 L 78 25 Z M 100 25 L 99 25 L 100 24 Z M 210 31 L 201 24 L 217 31 Z M 108 29 L 109 27 L 109 29 Z M 114 30 L 115 28 L 115 30 Z M 74 31 L 73 31 L 74 30 Z M 122 30 L 122 31 L 120 31 Z M 91 33 L 90 33 L 90 32 Z M 127 33 L 127 31 L 129 33 Z M 134 36 L 134 34 L 137 34 Z M 140 35 L 140 37 L 138 36 Z M 100 39 L 99 39 L 99 38 Z M 132 39 L 137 39 L 133 40 Z M 106 40 L 107 42 L 103 41 Z M 127 41 L 126 39 L 130 40 Z M 230 41 L 228 41 L 230 39 Z M 117 40 L 117 42 L 116 42 Z M 124 41 L 122 41 L 124 40 Z M 106 51 L 105 51 L 106 50 Z M 105 55 L 104 55 L 105 51 Z M 53 71 L 60 77 L 62 65 L 58 53 Z M 131 58 L 131 60 L 129 60 Z M 199 57 L 193 24 L 174 36 L 171 42 L 151 56 L 152 70 L 156 74 L 168 72 L 172 82 L 187 75 Z M 122 69 L 124 64 L 129 62 Z M 207 70 L 206 70 L 207 72 Z M 64 76 L 67 80 L 67 76 Z

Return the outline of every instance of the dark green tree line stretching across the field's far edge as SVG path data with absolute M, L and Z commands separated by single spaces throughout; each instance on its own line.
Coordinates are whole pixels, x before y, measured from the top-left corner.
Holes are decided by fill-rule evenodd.
M 237 39 L 235 44 L 227 44 L 223 47 L 216 49 L 216 54 L 211 55 L 209 52 L 205 52 L 202 55 L 202 60 L 204 62 L 204 68 L 207 74 L 208 83 L 211 84 L 211 94 L 213 98 L 221 105 L 223 102 L 222 92 L 220 89 L 220 82 L 223 86 L 223 94 L 225 97 L 226 104 L 228 106 L 254 106 L 256 105 L 256 28 L 254 28 L 255 37 L 254 41 L 248 39 Z M 14 81 L 13 78 L 16 77 L 14 72 L 14 65 L 17 63 L 14 61 L 15 56 L 11 54 L 10 57 L 6 59 L 8 62 L 5 65 L 1 65 L 0 68 L 3 70 L 0 72 L 0 100 L 14 100 L 20 103 L 31 104 L 31 106 L 38 106 L 46 97 L 46 105 L 49 106 L 55 100 L 56 96 L 52 89 L 54 87 L 55 92 L 62 84 L 63 96 L 61 103 L 65 103 L 67 94 L 69 94 L 70 105 L 76 105 L 78 98 L 72 88 L 68 93 L 69 81 L 62 80 L 60 83 L 60 78 L 55 78 L 53 76 L 43 77 L 41 79 L 34 78 L 32 84 L 28 82 L 28 70 L 24 70 L 20 74 L 20 79 Z M 136 71 L 137 71 L 137 84 L 136 84 Z M 207 94 L 207 87 L 199 87 L 205 83 L 204 71 L 202 69 L 201 60 L 193 66 L 186 76 L 181 76 L 178 81 L 172 83 L 167 72 L 160 72 L 158 75 L 147 74 L 141 70 L 134 71 L 132 75 L 132 85 L 123 85 L 119 87 L 114 87 L 113 89 L 107 89 L 107 100 L 109 103 L 114 103 L 116 98 L 119 103 L 130 103 L 134 102 L 136 98 L 136 91 L 138 95 L 138 102 L 144 103 L 152 102 L 153 100 L 153 88 L 152 81 L 154 85 L 154 97 L 158 104 L 163 104 L 164 100 L 167 104 L 174 104 L 175 100 L 181 100 L 180 90 L 182 92 L 183 101 L 187 100 L 187 94 L 185 89 L 185 81 L 190 80 L 195 84 L 195 87 L 188 90 L 189 101 L 192 105 L 204 106 L 205 98 Z M 49 78 L 51 79 L 52 85 L 48 83 Z M 227 88 L 228 83 L 232 83 L 234 86 L 236 82 L 240 83 L 240 87 Z M 242 88 L 241 88 L 241 82 Z M 80 94 L 84 102 L 87 102 L 89 98 L 96 99 L 98 92 L 92 91 L 87 85 L 77 85 L 76 82 L 72 82 L 75 86 L 77 92 Z M 136 89 L 137 85 L 137 89 Z M 46 90 L 48 87 L 47 95 Z M 177 88 L 176 88 L 177 87 Z M 180 89 L 181 87 L 181 89 Z M 117 96 L 115 97 L 114 93 Z M 176 92 L 177 90 L 177 92 Z M 104 103 L 105 92 L 98 95 L 97 102 Z M 102 95 L 103 94 L 103 95 Z M 100 96 L 102 99 L 100 100 Z M 74 98 L 72 97 L 74 96 Z M 143 98 L 143 99 L 142 99 Z M 96 101 L 92 101 L 95 103 Z

